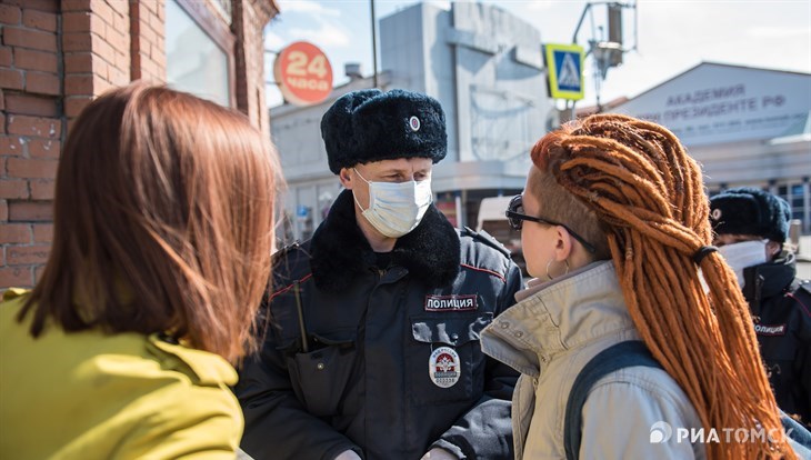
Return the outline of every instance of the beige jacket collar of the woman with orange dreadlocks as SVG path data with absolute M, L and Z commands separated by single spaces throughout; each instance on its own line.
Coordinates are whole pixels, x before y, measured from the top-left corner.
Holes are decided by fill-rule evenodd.
M 530 296 L 501 313 L 482 332 L 482 350 L 530 376 L 539 357 L 633 329 L 611 261 L 598 261 L 530 288 Z

